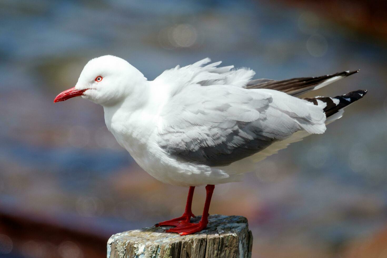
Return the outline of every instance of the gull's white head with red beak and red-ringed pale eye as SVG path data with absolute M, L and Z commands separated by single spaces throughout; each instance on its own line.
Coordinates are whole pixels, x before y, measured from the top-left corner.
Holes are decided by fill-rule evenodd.
M 90 60 L 75 87 L 58 94 L 55 102 L 81 96 L 103 106 L 114 105 L 129 96 L 144 75 L 117 56 L 100 56 Z

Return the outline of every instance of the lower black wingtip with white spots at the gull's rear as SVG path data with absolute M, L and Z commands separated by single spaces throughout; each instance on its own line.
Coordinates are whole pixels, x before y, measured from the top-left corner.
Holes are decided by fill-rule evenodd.
M 343 109 L 361 99 L 365 94 L 367 94 L 367 90 L 357 90 L 336 97 L 313 97 L 303 99 L 312 102 L 315 105 L 325 104 L 324 112 L 327 116 L 326 123 L 330 123 L 341 118 L 342 113 L 344 112 Z

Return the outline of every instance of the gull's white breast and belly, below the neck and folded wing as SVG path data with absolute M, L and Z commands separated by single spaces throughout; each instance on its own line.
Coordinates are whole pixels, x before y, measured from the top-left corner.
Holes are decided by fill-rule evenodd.
M 124 147 L 139 166 L 163 183 L 178 186 L 238 181 L 221 169 L 204 165 L 179 162 L 170 157 L 157 144 L 155 131 L 157 120 L 149 114 L 126 114 L 120 109 L 104 108 L 105 123 L 117 142 Z

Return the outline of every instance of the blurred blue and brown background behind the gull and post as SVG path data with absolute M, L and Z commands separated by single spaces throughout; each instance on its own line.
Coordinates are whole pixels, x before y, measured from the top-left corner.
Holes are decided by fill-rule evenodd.
M 116 232 L 180 216 L 187 188 L 142 171 L 101 106 L 53 104 L 111 54 L 152 80 L 209 56 L 255 78 L 360 73 L 307 96 L 368 89 L 324 135 L 217 186 L 211 214 L 243 215 L 253 257 L 387 257 L 385 1 L 0 0 L 0 257 L 106 257 Z M 194 195 L 200 214 L 204 187 Z

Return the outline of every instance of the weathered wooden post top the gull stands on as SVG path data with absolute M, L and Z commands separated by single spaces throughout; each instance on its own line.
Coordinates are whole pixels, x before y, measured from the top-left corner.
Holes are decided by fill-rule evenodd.
M 198 222 L 200 216 L 191 220 Z M 146 227 L 115 234 L 108 241 L 108 258 L 250 258 L 253 244 L 247 219 L 210 215 L 207 228 L 180 236 L 171 227 Z

